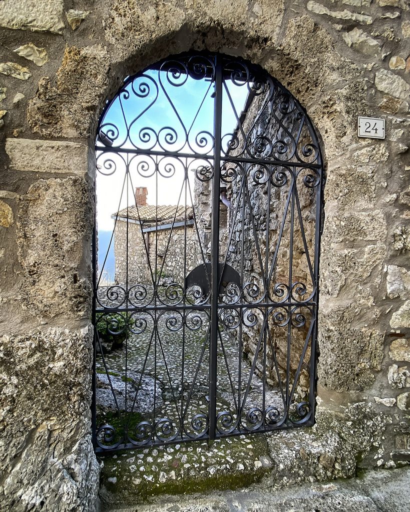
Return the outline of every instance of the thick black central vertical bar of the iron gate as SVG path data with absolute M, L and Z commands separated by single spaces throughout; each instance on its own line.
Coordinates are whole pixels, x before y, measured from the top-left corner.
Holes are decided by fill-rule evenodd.
M 218 263 L 219 263 L 219 188 L 222 123 L 222 67 L 220 57 L 215 56 L 215 104 L 214 104 L 214 180 L 212 187 L 212 242 L 211 242 L 211 332 L 209 339 L 209 438 L 216 437 L 216 379 L 218 352 Z

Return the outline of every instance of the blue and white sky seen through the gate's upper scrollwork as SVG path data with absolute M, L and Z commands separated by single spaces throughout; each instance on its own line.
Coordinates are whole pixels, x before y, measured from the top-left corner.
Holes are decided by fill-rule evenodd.
M 141 150 L 153 149 L 155 151 L 183 151 L 186 153 L 195 151 L 205 156 L 207 153 L 212 154 L 212 142 L 206 132 L 213 133 L 213 83 L 210 80 L 194 80 L 186 75 L 181 75 L 179 79 L 175 80 L 175 83 L 180 83 L 180 86 L 171 85 L 167 81 L 165 72 L 147 71 L 128 84 L 126 91 L 130 93 L 129 97 L 125 97 L 127 93 L 121 93 L 117 96 L 107 111 L 103 123 L 104 125 L 112 123 L 117 127 L 118 138 L 114 145 L 131 148 L 133 147 L 132 141 L 134 143 L 137 141 L 137 146 Z M 238 86 L 230 80 L 226 84 L 234 108 L 227 92 L 224 91 L 222 97 L 222 134 L 232 133 L 235 130 L 237 117 L 240 116 L 248 95 L 245 84 Z M 149 94 L 146 94 L 147 86 L 150 89 Z M 190 146 L 186 143 L 182 124 L 189 132 L 188 141 Z M 129 137 L 127 137 L 127 125 Z M 109 126 L 106 127 L 107 130 L 109 130 Z M 158 138 L 162 148 L 158 143 L 152 142 L 156 140 L 153 131 L 159 134 Z M 167 134 L 171 139 L 167 139 Z M 174 143 L 173 140 L 176 140 L 176 142 Z M 189 180 L 193 192 L 194 170 L 200 165 L 207 165 L 206 159 L 195 161 L 192 158 L 164 159 L 161 161 L 164 176 L 167 175 L 166 163 L 172 163 L 175 166 L 174 175 L 167 178 L 154 172 L 155 164 L 153 161 L 143 156 L 137 156 L 130 164 L 130 180 L 127 184 L 125 182 L 125 163 L 121 156 L 110 153 L 98 158 L 97 155 L 97 163 L 104 166 L 104 161 L 107 158 L 112 158 L 116 162 L 117 170 L 111 176 L 97 173 L 97 226 L 100 232 L 98 266 L 100 270 L 110 238 L 108 233 L 103 233 L 103 231 L 112 231 L 114 224 L 111 215 L 115 211 L 126 207 L 127 202 L 129 206 L 135 204 L 133 190 L 136 186 L 146 186 L 148 188 L 148 204 L 156 204 L 156 201 L 158 201 L 158 204 L 177 204 L 183 186 L 185 166 L 189 169 Z M 140 167 L 138 172 L 138 164 L 141 166 L 147 161 L 150 165 L 142 170 Z M 188 191 L 187 201 L 185 201 L 185 187 L 183 187 L 179 204 L 185 203 L 191 204 L 191 201 Z M 111 247 L 105 268 L 111 278 L 113 277 L 113 265 L 113 247 Z

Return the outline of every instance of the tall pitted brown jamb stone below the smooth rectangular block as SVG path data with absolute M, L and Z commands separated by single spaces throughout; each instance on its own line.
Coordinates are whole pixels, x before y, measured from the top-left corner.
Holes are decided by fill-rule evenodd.
M 39 180 L 19 202 L 17 244 L 24 282 L 22 301 L 38 318 L 89 318 L 91 190 L 78 177 Z

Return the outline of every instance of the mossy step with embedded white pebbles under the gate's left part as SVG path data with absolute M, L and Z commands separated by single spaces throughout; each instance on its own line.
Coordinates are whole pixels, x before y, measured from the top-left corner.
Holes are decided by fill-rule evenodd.
M 236 489 L 260 481 L 272 467 L 264 435 L 146 447 L 100 460 L 100 498 L 106 506 Z

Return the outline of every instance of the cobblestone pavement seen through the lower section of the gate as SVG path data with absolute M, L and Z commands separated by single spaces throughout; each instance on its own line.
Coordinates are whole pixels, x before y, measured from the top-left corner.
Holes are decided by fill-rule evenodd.
M 121 423 L 130 421 L 135 413 L 131 426 L 140 421 L 155 424 L 170 419 L 171 432 L 165 436 L 160 433 L 164 439 L 173 437 L 181 422 L 188 437 L 206 431 L 209 317 L 193 311 L 185 327 L 179 318 L 175 311 L 163 313 L 155 330 L 153 318 L 141 313 L 144 332 L 131 334 L 121 350 L 97 355 L 97 424 L 111 424 L 116 415 L 114 422 L 121 428 Z M 252 428 L 252 421 L 259 419 L 247 417 L 254 408 L 283 411 L 279 390 L 264 384 L 255 372 L 251 375 L 250 362 L 239 355 L 237 340 L 223 329 L 218 341 L 217 375 L 217 414 L 228 412 L 218 422 L 221 432 L 229 431 L 236 421 L 238 403 L 243 404 L 241 423 L 245 429 Z

